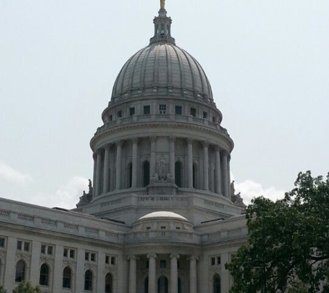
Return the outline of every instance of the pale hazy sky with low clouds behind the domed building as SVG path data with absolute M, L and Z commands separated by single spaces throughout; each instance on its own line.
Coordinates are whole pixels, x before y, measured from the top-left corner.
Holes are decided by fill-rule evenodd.
M 158 0 L 0 0 L 0 196 L 74 208 L 89 141 Z M 167 0 L 172 36 L 204 68 L 235 142 L 246 203 L 329 171 L 329 1 Z

